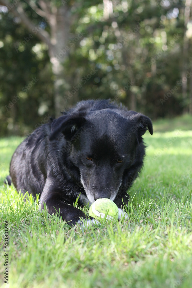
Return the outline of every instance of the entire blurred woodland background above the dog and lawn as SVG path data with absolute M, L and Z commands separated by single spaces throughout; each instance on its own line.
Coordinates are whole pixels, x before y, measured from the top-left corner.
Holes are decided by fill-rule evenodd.
M 0 136 L 86 99 L 192 114 L 191 0 L 0 0 Z

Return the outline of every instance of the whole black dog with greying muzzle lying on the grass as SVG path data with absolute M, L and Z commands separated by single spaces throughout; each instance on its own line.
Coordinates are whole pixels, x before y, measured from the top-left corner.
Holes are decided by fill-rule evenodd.
M 81 101 L 18 146 L 10 164 L 13 184 L 40 194 L 41 209 L 45 202 L 50 214 L 58 211 L 70 225 L 85 219 L 73 206 L 80 193 L 80 206 L 109 198 L 121 217 L 126 191 L 143 166 L 147 129 L 152 135 L 151 120 L 140 113 L 109 100 Z

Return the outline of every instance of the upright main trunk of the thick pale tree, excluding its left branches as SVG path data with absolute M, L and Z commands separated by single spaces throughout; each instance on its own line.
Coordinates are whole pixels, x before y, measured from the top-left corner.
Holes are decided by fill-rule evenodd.
M 70 10 L 66 7 L 55 8 L 50 18 L 51 43 L 49 49 L 52 71 L 54 74 L 54 104 L 56 117 L 61 115 L 66 107 L 71 106 L 77 99 L 77 93 L 69 97 L 69 79 L 64 70 L 64 62 L 69 57 L 71 26 Z M 66 100 L 67 98 L 67 100 Z

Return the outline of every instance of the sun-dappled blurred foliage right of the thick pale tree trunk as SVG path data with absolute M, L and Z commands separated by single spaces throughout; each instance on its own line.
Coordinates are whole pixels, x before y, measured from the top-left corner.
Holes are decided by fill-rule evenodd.
M 165 7 L 157 1 L 113 1 L 113 17 L 107 20 L 103 19 L 101 3 L 84 10 L 73 31 L 83 31 L 85 37 L 75 43 L 76 49 L 65 63 L 78 81 L 71 77 L 71 90 L 79 79 L 86 79 L 92 68 L 97 72 L 87 81 L 80 81 L 83 88 L 79 89 L 79 99 L 89 99 L 90 95 L 116 99 L 153 119 L 179 114 L 187 107 L 180 73 L 183 4 L 177 3 L 179 14 L 173 18 L 171 11 L 177 7 L 174 3 L 170 1 Z M 190 67 L 188 62 L 186 70 Z M 169 90 L 173 91 L 171 96 Z

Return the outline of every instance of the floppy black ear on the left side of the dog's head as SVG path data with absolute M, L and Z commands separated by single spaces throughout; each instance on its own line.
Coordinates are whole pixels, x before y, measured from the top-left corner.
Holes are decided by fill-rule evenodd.
M 71 140 L 75 133 L 85 123 L 85 112 L 66 114 L 55 119 L 52 123 L 52 134 L 49 140 L 52 141 L 61 133 L 67 140 Z

